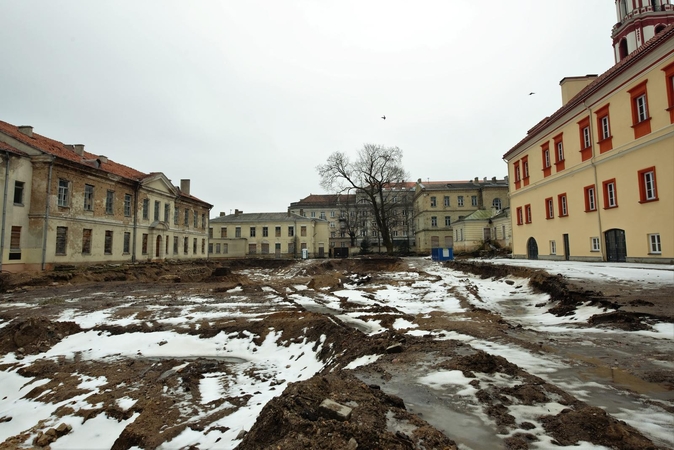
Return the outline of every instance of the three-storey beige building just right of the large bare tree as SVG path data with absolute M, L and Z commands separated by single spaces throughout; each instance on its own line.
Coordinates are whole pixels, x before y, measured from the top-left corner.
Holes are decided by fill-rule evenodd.
M 414 193 L 415 241 L 418 252 L 454 247 L 453 223 L 478 210 L 491 214 L 509 205 L 508 180 L 418 180 Z

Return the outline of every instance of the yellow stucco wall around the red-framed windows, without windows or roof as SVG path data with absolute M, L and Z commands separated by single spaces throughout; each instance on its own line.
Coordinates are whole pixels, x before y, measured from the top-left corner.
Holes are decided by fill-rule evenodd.
M 550 124 L 541 135 L 530 141 L 515 155 L 508 168 L 511 180 L 513 253 L 526 257 L 527 241 L 535 238 L 540 258 L 560 259 L 564 255 L 563 235 L 569 236 L 571 259 L 604 260 L 604 233 L 611 229 L 625 231 L 628 261 L 670 262 L 674 258 L 674 125 L 667 108 L 665 76 L 662 68 L 674 61 L 671 44 L 653 54 L 639 67 L 632 68 L 593 95 L 585 106 L 580 105 L 565 117 Z M 629 89 L 648 80 L 648 109 L 651 132 L 635 140 Z M 613 149 L 603 154 L 597 144 L 595 111 L 610 104 L 609 116 Z M 577 122 L 590 115 L 594 157 L 581 161 Z M 556 172 L 552 137 L 563 132 L 565 169 Z M 541 145 L 550 142 L 552 175 L 543 177 Z M 528 155 L 530 184 L 515 188 L 514 162 Z M 640 203 L 638 171 L 656 168 L 659 200 Z M 617 208 L 605 209 L 602 182 L 616 180 Z M 595 185 L 597 211 L 585 212 L 584 187 Z M 566 193 L 568 217 L 559 217 L 557 196 Z M 555 217 L 546 219 L 545 199 L 553 198 Z M 517 207 L 530 204 L 531 224 L 517 225 Z M 662 254 L 650 254 L 648 234 L 659 233 Z M 592 251 L 591 238 L 598 237 L 601 250 Z M 555 241 L 557 254 L 550 254 L 550 241 Z

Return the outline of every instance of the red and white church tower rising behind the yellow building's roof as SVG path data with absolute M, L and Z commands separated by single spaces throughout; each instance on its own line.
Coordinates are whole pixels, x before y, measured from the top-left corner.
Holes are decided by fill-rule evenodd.
M 674 23 L 674 0 L 615 0 L 618 23 L 613 26 L 613 53 L 619 62 Z

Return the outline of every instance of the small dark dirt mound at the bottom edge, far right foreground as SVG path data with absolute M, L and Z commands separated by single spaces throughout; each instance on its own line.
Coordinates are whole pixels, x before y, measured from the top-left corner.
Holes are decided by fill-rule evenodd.
M 543 428 L 557 440 L 557 445 L 586 441 L 617 450 L 659 448 L 630 425 L 593 406 L 565 409 L 556 416 L 541 418 L 541 422 Z

